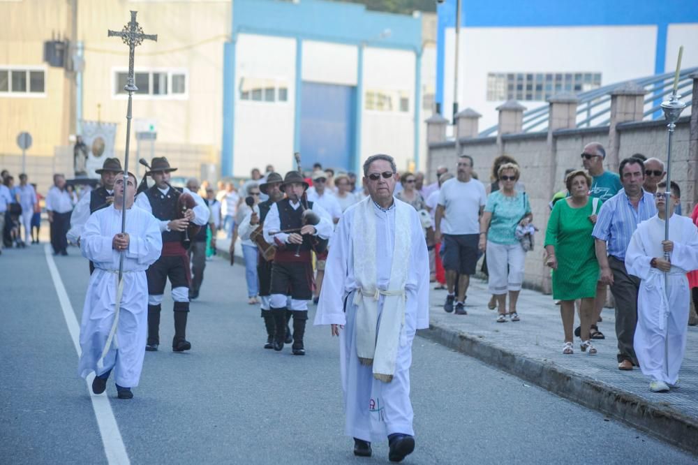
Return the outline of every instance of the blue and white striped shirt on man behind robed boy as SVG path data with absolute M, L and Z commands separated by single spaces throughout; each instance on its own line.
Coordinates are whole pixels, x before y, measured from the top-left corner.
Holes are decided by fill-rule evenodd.
M 591 233 L 596 239 L 606 241 L 609 256 L 625 260 L 625 251 L 630 244 L 630 237 L 642 221 L 657 214 L 654 195 L 642 191 L 637 210 L 630 203 L 625 191 L 620 191 L 609 198 L 597 216 L 596 225 Z

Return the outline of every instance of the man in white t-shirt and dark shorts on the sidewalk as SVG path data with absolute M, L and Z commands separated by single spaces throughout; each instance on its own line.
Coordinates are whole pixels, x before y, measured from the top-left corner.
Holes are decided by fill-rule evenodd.
M 458 300 L 456 315 L 467 315 L 466 291 L 470 275 L 475 274 L 480 239 L 480 215 L 487 203 L 484 185 L 473 179 L 473 157 L 461 155 L 458 159 L 456 179 L 449 179 L 441 186 L 436 207 L 434 240 L 443 238 L 443 267 L 446 270 L 448 295 L 443 309 L 454 310 L 456 276 Z

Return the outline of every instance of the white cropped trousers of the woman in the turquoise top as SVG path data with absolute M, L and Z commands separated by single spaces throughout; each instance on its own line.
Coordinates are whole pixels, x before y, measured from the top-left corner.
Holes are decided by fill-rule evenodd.
M 521 290 L 526 251 L 521 244 L 504 245 L 487 241 L 488 288 L 492 295 Z

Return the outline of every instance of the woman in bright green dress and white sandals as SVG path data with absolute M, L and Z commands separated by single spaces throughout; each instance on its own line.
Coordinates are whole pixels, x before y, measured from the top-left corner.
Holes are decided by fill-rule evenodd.
M 564 354 L 574 353 L 572 328 L 574 301 L 581 299 L 581 351 L 596 354 L 589 333 L 592 321 L 599 264 L 591 232 L 601 201 L 589 197 L 591 177 L 582 170 L 565 179 L 570 196 L 555 203 L 545 233 L 546 265 L 553 269 L 553 298 L 560 300 L 565 330 Z

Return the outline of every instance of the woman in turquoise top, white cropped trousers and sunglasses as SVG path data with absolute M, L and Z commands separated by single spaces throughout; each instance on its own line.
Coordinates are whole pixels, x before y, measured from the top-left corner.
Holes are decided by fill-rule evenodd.
M 509 316 L 519 321 L 517 300 L 523 281 L 526 251 L 517 239 L 517 226 L 533 220 L 525 192 L 514 189 L 519 181 L 519 165 L 505 163 L 499 167 L 501 189 L 487 196 L 480 219 L 480 250 L 487 251 L 489 292 L 496 296 L 497 323 L 507 321 L 506 299 L 509 293 Z M 508 271 L 507 271 L 508 268 Z

